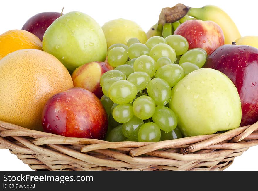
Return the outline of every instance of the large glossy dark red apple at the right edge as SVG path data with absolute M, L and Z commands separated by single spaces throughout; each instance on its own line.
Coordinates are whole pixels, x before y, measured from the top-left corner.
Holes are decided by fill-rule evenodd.
M 219 70 L 237 87 L 242 104 L 241 126 L 258 121 L 257 48 L 246 45 L 223 45 L 209 55 L 203 68 Z

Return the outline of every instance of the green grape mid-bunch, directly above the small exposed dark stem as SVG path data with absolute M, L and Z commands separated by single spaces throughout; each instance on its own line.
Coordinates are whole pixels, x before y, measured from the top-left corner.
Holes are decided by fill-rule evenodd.
M 147 88 L 150 82 L 150 76 L 145 72 L 134 72 L 128 76 L 127 81 L 134 84 L 137 90 L 143 90 Z

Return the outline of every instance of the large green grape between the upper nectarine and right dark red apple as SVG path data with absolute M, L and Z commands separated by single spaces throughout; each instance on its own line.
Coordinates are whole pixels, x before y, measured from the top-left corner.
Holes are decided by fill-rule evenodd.
M 179 64 L 190 62 L 201 68 L 206 62 L 206 54 L 200 49 L 190 49 L 181 56 Z

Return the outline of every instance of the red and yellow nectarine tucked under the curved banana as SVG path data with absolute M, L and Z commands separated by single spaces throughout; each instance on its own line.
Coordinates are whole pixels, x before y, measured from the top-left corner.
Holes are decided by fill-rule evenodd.
M 189 49 L 202 48 L 207 54 L 224 44 L 224 34 L 220 26 L 213 21 L 188 20 L 174 32 L 185 37 Z

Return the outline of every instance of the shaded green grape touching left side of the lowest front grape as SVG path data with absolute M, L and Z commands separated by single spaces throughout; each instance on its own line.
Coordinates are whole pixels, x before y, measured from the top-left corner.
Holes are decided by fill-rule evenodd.
M 123 134 L 125 137 L 137 137 L 140 126 L 143 125 L 143 120 L 133 116 L 128 122 L 123 123 Z

